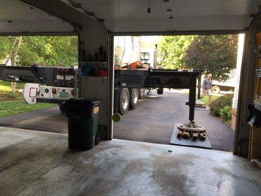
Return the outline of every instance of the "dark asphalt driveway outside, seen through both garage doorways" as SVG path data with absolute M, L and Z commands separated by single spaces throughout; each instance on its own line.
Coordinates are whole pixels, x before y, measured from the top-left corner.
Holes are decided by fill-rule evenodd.
M 139 101 L 135 110 L 129 110 L 119 123 L 114 123 L 114 138 L 169 144 L 174 123 L 187 123 L 189 98 L 182 90 L 156 91 Z M 212 149 L 233 151 L 234 131 L 209 111 L 195 111 L 195 121 L 207 128 Z M 58 107 L 36 110 L 0 118 L 0 126 L 67 133 L 67 117 Z

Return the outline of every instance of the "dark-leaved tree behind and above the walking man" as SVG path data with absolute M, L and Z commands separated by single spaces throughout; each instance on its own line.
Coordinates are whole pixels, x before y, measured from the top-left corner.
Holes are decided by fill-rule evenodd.
M 182 58 L 183 69 L 212 73 L 218 81 L 230 78 L 237 64 L 237 35 L 201 35 L 195 37 Z

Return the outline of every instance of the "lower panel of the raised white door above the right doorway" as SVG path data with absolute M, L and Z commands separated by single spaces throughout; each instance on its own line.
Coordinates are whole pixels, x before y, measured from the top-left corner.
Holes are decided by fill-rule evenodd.
M 234 17 L 181 17 L 181 18 L 155 18 L 152 20 L 139 19 L 121 19 L 107 20 L 105 24 L 109 30 L 115 29 L 119 32 L 148 32 L 148 31 L 197 31 L 197 30 L 241 30 L 248 26 L 251 22 L 250 17 L 234 16 Z M 213 22 L 214 21 L 214 22 Z M 155 25 L 158 24 L 158 25 Z M 235 25 L 230 25 L 235 24 Z M 245 25 L 246 24 L 246 25 Z M 244 28 L 242 28 L 244 26 Z

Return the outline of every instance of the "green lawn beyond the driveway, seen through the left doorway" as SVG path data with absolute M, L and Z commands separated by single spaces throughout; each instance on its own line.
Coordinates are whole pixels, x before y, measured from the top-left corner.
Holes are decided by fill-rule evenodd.
M 24 83 L 17 82 L 17 91 L 24 88 Z M 0 118 L 13 114 L 19 114 L 32 110 L 38 110 L 55 106 L 51 103 L 27 104 L 24 101 L 22 93 L 12 92 L 11 82 L 0 80 Z

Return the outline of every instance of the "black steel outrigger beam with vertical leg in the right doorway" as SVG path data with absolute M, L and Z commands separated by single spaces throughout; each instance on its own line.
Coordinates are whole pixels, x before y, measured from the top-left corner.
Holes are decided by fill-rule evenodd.
M 196 102 L 196 81 L 201 77 L 201 71 L 177 71 L 163 69 L 141 70 L 116 70 L 115 88 L 173 88 L 189 89 L 190 107 L 189 120 L 194 120 L 194 108 Z

